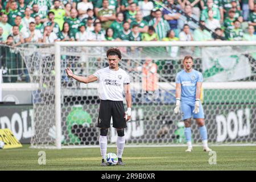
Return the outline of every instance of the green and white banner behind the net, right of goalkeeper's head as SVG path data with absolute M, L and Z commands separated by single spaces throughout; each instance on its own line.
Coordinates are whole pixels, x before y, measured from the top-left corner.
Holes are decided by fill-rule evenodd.
M 251 76 L 249 58 L 232 47 L 202 48 L 205 81 L 234 81 Z

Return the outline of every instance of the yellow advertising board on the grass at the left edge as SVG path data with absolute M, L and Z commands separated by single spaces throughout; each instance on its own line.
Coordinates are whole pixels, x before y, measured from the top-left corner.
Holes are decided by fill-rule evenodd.
M 3 149 L 22 147 L 22 144 L 16 139 L 10 129 L 0 129 L 0 140 L 5 142 Z

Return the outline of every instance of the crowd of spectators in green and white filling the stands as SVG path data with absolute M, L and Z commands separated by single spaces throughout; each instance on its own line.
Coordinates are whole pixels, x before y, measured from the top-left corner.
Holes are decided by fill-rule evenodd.
M 256 40 L 256 0 L 0 0 L 0 10 L 0 42 L 9 46 L 220 40 L 204 26 L 226 40 Z

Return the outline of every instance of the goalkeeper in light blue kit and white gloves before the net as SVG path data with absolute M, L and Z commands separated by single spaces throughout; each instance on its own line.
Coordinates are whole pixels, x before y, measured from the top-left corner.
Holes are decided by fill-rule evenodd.
M 202 73 L 193 69 L 193 57 L 185 56 L 183 59 L 184 70 L 177 73 L 176 76 L 176 106 L 174 113 L 182 113 L 182 119 L 185 123 L 185 138 L 188 149 L 192 151 L 191 143 L 191 117 L 196 119 L 199 125 L 200 136 L 203 142 L 204 151 L 212 151 L 207 143 L 207 129 L 204 125 L 204 111 L 200 102 L 201 86 L 203 84 Z

